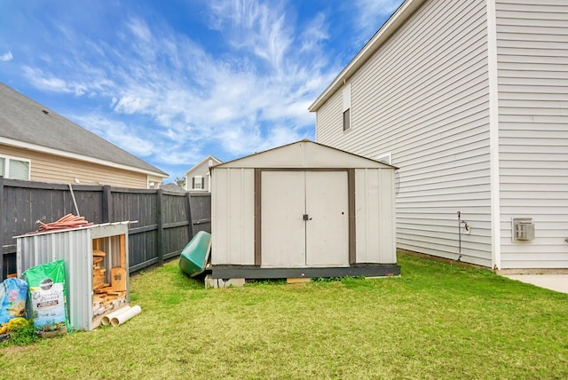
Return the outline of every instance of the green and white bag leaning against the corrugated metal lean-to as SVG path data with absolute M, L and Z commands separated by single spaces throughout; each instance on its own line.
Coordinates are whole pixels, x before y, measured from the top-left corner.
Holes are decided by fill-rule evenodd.
M 38 336 L 66 334 L 67 293 L 63 260 L 37 265 L 23 273 L 28 281 L 31 317 Z

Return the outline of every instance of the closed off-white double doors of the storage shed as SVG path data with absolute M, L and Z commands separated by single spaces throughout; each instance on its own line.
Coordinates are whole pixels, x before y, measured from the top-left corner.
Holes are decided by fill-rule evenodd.
M 263 170 L 261 265 L 348 266 L 345 170 Z

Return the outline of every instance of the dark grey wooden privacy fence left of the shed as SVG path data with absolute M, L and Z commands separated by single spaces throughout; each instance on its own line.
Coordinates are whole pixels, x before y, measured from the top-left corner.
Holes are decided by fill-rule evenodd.
M 76 203 L 76 209 L 75 209 Z M 95 224 L 131 221 L 130 273 L 176 257 L 197 231 L 210 232 L 209 193 L 170 193 L 162 189 L 57 185 L 0 177 L 0 273 L 16 273 L 13 236 L 38 229 L 37 220 L 55 221 L 68 213 Z

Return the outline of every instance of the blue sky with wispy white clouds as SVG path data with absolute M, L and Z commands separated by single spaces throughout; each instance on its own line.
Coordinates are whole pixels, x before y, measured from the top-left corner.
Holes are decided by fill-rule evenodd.
M 402 0 L 0 0 L 0 82 L 170 173 L 314 139 Z

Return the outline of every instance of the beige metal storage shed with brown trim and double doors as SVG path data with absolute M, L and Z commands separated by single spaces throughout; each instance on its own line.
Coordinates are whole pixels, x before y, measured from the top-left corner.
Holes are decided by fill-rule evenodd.
M 396 169 L 305 139 L 214 166 L 212 278 L 398 275 Z

